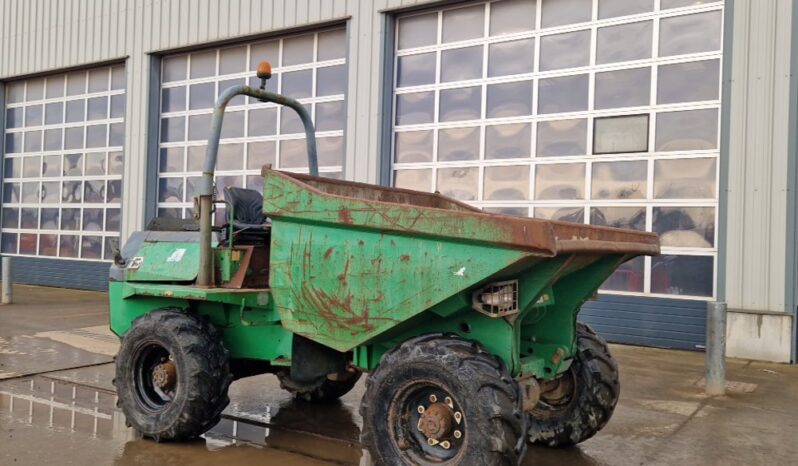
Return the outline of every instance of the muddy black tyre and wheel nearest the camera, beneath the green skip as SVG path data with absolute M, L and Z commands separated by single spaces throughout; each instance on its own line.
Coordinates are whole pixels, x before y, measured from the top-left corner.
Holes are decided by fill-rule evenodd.
M 518 384 L 497 357 L 453 336 L 413 338 L 383 355 L 360 414 L 376 464 L 516 465 L 526 451 Z

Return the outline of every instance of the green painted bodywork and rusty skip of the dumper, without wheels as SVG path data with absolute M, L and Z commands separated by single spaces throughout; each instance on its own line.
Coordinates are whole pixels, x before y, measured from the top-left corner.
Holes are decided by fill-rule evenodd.
M 373 370 L 400 342 L 453 333 L 480 342 L 514 376 L 550 379 L 575 351 L 582 303 L 656 236 L 485 214 L 440 195 L 264 170 L 272 221 L 269 289 L 200 288 L 198 244 L 144 243 L 147 264 L 110 284 L 111 328 L 172 307 L 208 316 L 237 359 L 290 365 L 294 334 Z M 613 242 L 612 238 L 617 238 Z M 185 248 L 182 267 L 166 261 Z M 238 265 L 217 248 L 218 279 Z M 191 253 L 189 253 L 191 252 Z M 192 269 L 193 267 L 193 269 Z M 153 277 L 163 277 L 154 283 Z M 187 278 L 189 277 L 189 278 Z M 518 281 L 518 312 L 494 317 L 474 293 Z

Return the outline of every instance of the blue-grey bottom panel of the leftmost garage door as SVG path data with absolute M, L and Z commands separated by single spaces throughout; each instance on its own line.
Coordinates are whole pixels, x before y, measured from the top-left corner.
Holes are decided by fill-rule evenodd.
M 110 267 L 104 262 L 14 257 L 11 278 L 25 285 L 106 291 Z

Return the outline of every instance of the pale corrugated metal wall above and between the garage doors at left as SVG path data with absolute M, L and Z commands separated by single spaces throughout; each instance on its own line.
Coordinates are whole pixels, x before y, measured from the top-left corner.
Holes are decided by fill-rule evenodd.
M 247 36 L 348 21 L 346 176 L 378 181 L 385 9 L 401 0 L 3 0 L 0 79 L 126 60 L 122 236 L 145 216 L 150 54 Z M 428 3 L 428 2 L 427 2 Z M 365 49 L 364 49 L 365 48 Z

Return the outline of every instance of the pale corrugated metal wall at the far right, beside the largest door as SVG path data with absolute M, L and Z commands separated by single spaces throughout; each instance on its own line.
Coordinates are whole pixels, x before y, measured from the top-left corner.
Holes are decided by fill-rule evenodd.
M 785 311 L 790 53 L 793 1 L 734 2 L 726 300 Z M 722 273 L 721 273 L 722 276 Z

